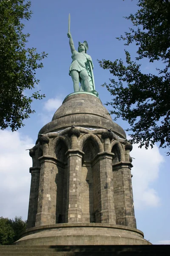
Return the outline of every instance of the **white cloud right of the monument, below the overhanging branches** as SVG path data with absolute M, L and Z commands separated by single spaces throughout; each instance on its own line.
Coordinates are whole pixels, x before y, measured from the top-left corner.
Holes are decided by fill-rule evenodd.
M 159 206 L 159 195 L 153 189 L 153 183 L 159 177 L 161 163 L 164 162 L 159 148 L 155 145 L 154 148 L 146 150 L 145 148 L 138 148 L 137 144 L 133 144 L 130 155 L 135 158 L 132 169 L 135 209 Z

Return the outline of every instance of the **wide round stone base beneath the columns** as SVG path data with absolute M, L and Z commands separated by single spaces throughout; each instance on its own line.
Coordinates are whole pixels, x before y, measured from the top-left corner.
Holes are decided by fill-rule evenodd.
M 139 245 L 151 244 L 142 231 L 101 223 L 63 223 L 26 230 L 16 245 Z

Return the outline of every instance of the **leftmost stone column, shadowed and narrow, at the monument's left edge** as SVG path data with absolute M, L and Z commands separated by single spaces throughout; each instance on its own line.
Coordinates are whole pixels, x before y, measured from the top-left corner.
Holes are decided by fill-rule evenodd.
M 35 227 L 35 219 L 36 219 L 37 204 L 38 204 L 40 167 L 39 166 L 31 167 L 29 169 L 29 172 L 31 173 L 31 187 L 30 187 L 28 219 L 26 223 L 26 228 Z

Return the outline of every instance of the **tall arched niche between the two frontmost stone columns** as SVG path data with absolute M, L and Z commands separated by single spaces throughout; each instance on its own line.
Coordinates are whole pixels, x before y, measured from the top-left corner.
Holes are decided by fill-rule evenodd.
M 96 222 L 94 214 L 94 168 L 92 160 L 99 153 L 98 143 L 93 137 L 85 140 L 82 151 L 82 222 Z

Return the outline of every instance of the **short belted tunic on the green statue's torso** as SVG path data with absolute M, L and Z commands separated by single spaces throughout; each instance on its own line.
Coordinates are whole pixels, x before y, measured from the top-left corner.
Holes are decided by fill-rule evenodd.
M 73 55 L 71 56 L 72 62 L 69 69 L 69 75 L 71 76 L 71 70 L 77 70 L 78 72 L 81 72 L 83 70 L 86 70 L 86 64 L 87 64 L 87 53 L 81 53 L 77 52 L 76 50 L 73 52 Z

